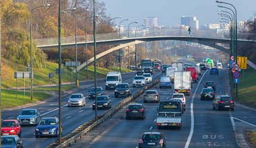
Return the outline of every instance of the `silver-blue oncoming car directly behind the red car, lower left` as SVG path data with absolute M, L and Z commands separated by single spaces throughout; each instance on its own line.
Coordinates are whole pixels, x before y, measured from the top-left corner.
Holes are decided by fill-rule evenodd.
M 38 124 L 41 120 L 41 114 L 36 109 L 23 109 L 17 116 L 20 125 Z

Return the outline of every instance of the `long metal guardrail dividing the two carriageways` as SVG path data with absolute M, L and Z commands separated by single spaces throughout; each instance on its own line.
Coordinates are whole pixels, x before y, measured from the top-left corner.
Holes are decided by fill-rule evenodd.
M 128 98 L 125 98 L 117 106 L 114 108 L 111 108 L 110 110 L 106 110 L 103 114 L 98 116 L 98 120 L 92 119 L 88 122 L 85 122 L 81 126 L 77 127 L 73 132 L 69 133 L 62 139 L 62 143 L 59 144 L 59 139 L 55 141 L 54 143 L 51 143 L 51 145 L 47 146 L 47 148 L 61 148 L 61 147 L 67 147 L 69 146 L 73 141 L 76 142 L 77 139 L 82 138 L 82 135 L 86 135 L 86 133 L 92 131 L 94 128 L 102 124 L 104 121 L 108 120 L 108 118 L 111 118 L 114 114 L 119 112 L 123 107 L 127 106 L 130 102 L 137 99 L 143 92 L 156 85 L 159 82 L 159 79 L 154 79 L 153 83 L 150 83 L 146 86 L 144 86 L 140 91 L 138 91 L 133 96 L 130 96 Z

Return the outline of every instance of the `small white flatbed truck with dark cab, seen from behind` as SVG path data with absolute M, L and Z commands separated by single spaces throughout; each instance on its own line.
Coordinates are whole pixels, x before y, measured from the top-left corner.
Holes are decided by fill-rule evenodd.
M 164 100 L 157 108 L 158 116 L 156 118 L 156 126 L 158 129 L 165 126 L 182 126 L 182 109 L 181 102 L 174 100 Z

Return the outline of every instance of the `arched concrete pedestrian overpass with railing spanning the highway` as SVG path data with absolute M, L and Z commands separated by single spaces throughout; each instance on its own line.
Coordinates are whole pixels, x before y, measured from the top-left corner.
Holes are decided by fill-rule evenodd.
M 129 36 L 129 38 L 128 38 Z M 77 47 L 94 46 L 93 34 L 87 36 L 77 36 Z M 256 40 L 247 40 L 247 38 L 255 38 L 255 34 L 238 33 L 238 45 L 256 46 Z M 115 47 L 105 50 L 96 55 L 96 59 L 104 57 L 106 54 L 115 52 L 127 46 L 141 44 L 143 42 L 159 41 L 159 40 L 180 40 L 187 42 L 195 42 L 211 46 L 218 50 L 222 50 L 227 54 L 231 54 L 228 48 L 224 48 L 223 44 L 230 44 L 229 32 L 213 32 L 212 30 L 192 30 L 191 34 L 186 30 L 141 30 L 141 32 L 123 32 L 122 34 L 96 34 L 96 46 L 115 45 Z M 42 50 L 59 48 L 59 38 L 36 39 L 36 45 Z M 75 48 L 75 36 L 62 37 L 61 48 Z M 87 64 L 94 62 L 94 57 L 89 59 Z M 86 67 L 86 62 L 77 67 L 77 71 Z

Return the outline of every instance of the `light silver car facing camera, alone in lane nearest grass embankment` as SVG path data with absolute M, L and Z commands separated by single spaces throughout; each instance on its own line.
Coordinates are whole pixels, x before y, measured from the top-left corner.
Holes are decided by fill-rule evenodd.
M 83 94 L 71 94 L 69 96 L 68 104 L 67 107 L 72 107 L 72 106 L 86 106 L 86 98 L 84 97 Z

